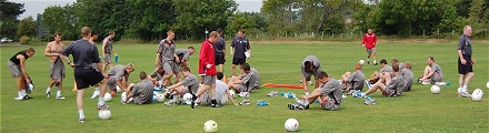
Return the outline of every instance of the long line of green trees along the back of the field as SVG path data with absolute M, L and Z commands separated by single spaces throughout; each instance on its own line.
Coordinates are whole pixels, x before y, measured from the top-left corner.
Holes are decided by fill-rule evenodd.
M 170 29 L 177 39 L 203 40 L 206 30 L 218 28 L 227 34 L 238 29 L 247 34 L 340 34 L 373 28 L 379 35 L 443 38 L 441 33 L 460 33 L 470 24 L 475 37 L 488 35 L 489 0 L 369 1 L 266 0 L 260 12 L 240 12 L 234 0 L 77 0 L 46 8 L 42 24 L 67 40 L 79 39 L 84 25 L 101 35 L 116 31 L 117 39 L 147 41 L 164 38 Z M 0 0 L 0 6 L 1 37 L 36 35 L 31 17 L 17 20 L 24 12 L 22 3 Z

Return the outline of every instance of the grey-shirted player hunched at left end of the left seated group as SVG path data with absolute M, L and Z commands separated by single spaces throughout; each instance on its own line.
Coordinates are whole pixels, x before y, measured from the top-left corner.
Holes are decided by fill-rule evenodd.
M 117 86 L 122 89 L 123 92 L 126 92 L 126 89 L 128 88 L 128 78 L 131 72 L 134 71 L 134 64 L 129 63 L 128 65 L 116 65 L 112 69 L 110 69 L 107 74 L 109 75 L 109 80 L 107 82 L 107 88 L 111 89 L 110 95 L 116 96 L 117 93 Z

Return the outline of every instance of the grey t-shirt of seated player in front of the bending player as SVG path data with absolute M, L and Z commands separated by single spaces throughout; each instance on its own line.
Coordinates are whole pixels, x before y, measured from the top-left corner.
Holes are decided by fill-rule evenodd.
M 340 82 L 338 80 L 335 80 L 333 78 L 330 78 L 329 81 L 325 84 L 321 84 L 321 90 L 319 92 L 322 95 L 329 95 L 329 98 L 335 99 L 338 104 L 341 103 L 342 100 L 342 90 Z

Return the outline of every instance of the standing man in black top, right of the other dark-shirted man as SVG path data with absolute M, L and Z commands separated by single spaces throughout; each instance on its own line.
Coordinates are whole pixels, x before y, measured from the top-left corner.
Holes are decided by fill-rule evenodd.
M 240 29 L 238 31 L 238 37 L 231 42 L 231 55 L 232 55 L 232 75 L 236 74 L 236 65 L 242 65 L 247 62 L 247 59 L 251 58 L 250 43 L 247 38 L 244 38 L 244 30 Z M 241 73 L 240 73 L 241 74 Z

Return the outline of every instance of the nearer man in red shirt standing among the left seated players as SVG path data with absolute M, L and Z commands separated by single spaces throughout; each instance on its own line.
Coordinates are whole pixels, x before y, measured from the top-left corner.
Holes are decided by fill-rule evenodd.
M 209 34 L 209 39 L 202 42 L 200 47 L 199 53 L 199 75 L 202 76 L 202 84 L 200 88 L 207 91 L 210 89 L 211 96 L 211 108 L 220 108 L 218 102 L 216 101 L 216 54 L 213 44 L 218 41 L 219 33 L 217 31 L 212 31 Z M 200 90 L 200 89 L 199 89 Z M 190 106 L 193 109 L 197 96 L 202 94 L 204 91 L 199 91 L 197 94 L 192 94 L 192 101 Z

